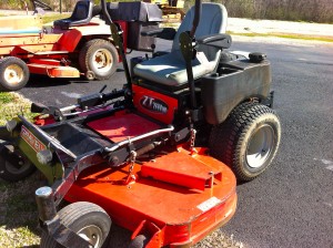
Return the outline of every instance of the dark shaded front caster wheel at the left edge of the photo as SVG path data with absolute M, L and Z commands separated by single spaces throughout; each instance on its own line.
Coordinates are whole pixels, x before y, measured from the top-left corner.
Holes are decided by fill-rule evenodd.
M 30 176 L 34 170 L 34 165 L 26 157 L 14 152 L 18 156 L 18 164 L 12 164 L 6 157 L 0 156 L 0 178 L 7 182 L 18 182 Z

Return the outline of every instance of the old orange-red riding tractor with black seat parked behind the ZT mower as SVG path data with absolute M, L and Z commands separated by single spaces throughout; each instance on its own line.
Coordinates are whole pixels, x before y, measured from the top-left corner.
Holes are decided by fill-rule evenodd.
M 130 17 L 131 20 L 121 13 L 124 9 L 122 3 L 120 10 L 118 4 L 109 3 L 110 11 L 111 6 L 112 14 L 115 14 L 111 18 L 120 24 L 125 21 L 158 24 L 162 21 L 161 10 L 154 4 L 144 4 L 144 16 L 141 19 Z M 70 18 L 57 20 L 51 27 L 43 27 L 39 16 L 1 18 L 0 90 L 20 90 L 27 84 L 30 73 L 50 78 L 84 75 L 88 80 L 109 79 L 115 72 L 120 59 L 110 27 L 101 18 L 94 18 L 100 13 L 101 6 L 93 6 L 90 0 L 80 0 Z M 150 50 L 135 46 L 139 33 L 131 39 L 128 41 L 124 32 L 124 50 L 128 44 L 131 50 Z

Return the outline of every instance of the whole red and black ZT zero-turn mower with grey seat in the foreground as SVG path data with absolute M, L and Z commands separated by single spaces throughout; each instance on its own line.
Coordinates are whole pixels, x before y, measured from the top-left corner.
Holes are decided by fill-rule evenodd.
M 270 62 L 223 51 L 225 8 L 196 0 L 176 32 L 141 32 L 173 40 L 170 53 L 128 65 L 102 7 L 127 84 L 68 107 L 33 103 L 34 123 L 9 121 L 0 176 L 19 180 L 37 167 L 48 179 L 36 190 L 41 247 L 102 247 L 111 220 L 132 231 L 132 248 L 190 247 L 234 215 L 236 178 L 255 178 L 276 154 Z M 58 209 L 63 199 L 72 204 Z

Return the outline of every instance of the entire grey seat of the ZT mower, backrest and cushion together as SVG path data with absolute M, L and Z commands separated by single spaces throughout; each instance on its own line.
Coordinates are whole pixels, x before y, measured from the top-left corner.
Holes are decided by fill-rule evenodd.
M 153 81 L 157 84 L 180 86 L 188 82 L 185 61 L 180 51 L 179 38 L 182 32 L 191 30 L 194 19 L 194 7 L 186 13 L 173 40 L 171 53 L 144 61 L 138 64 L 133 72 L 137 76 Z M 224 33 L 226 27 L 226 10 L 220 3 L 202 3 L 201 21 L 196 28 L 198 38 Z M 199 79 L 215 70 L 219 64 L 221 49 L 210 45 L 199 45 L 200 56 L 192 61 L 193 78 Z

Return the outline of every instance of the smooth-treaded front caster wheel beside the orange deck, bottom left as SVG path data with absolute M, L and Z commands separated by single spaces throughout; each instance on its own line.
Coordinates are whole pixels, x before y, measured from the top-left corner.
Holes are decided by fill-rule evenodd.
M 78 202 L 62 208 L 59 213 L 62 225 L 75 231 L 79 236 L 90 241 L 94 248 L 107 246 L 111 227 L 109 215 L 98 205 Z M 46 231 L 41 236 L 41 248 L 56 248 L 57 242 Z

